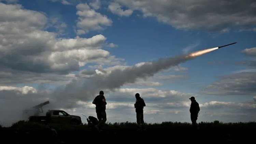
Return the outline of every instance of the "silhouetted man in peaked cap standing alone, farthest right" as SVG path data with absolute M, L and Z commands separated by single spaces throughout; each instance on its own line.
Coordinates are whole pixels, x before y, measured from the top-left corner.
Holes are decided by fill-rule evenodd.
M 190 118 L 192 121 L 192 125 L 194 128 L 198 128 L 197 127 L 197 117 L 198 117 L 198 113 L 200 111 L 200 107 L 199 104 L 197 103 L 197 101 L 195 100 L 195 97 L 191 97 L 189 98 L 191 100 L 191 105 L 190 105 Z

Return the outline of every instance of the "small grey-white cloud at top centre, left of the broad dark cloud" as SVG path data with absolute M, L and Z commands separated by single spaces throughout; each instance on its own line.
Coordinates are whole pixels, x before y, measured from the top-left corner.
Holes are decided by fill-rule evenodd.
M 117 14 L 119 16 L 130 16 L 132 14 L 132 10 L 123 10 L 121 8 L 121 5 L 119 5 L 118 3 L 114 3 L 114 2 L 111 2 L 110 5 L 109 5 L 109 10 L 113 13 L 113 14 Z

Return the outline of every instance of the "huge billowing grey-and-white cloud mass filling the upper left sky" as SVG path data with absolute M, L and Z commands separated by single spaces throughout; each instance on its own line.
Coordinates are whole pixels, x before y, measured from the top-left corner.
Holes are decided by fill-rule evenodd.
M 101 49 L 106 40 L 101 34 L 57 39 L 56 33 L 42 30 L 47 22 L 44 14 L 21 5 L 0 3 L 0 17 L 0 69 L 68 74 L 87 63 L 119 63 Z

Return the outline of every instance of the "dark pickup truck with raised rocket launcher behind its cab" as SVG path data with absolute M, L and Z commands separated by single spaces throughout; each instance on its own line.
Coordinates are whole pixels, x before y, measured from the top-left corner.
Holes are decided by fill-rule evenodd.
M 80 116 L 70 115 L 62 110 L 48 110 L 46 116 L 29 116 L 28 121 L 42 123 L 57 123 L 57 124 L 73 124 L 80 125 L 82 120 Z

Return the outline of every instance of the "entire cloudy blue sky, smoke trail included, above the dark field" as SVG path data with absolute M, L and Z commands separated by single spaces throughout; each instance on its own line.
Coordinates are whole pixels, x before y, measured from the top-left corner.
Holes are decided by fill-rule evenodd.
M 136 93 L 146 123 L 191 123 L 191 96 L 198 123 L 256 121 L 256 1 L 0 0 L 0 125 L 45 101 L 87 123 L 100 90 L 108 123 Z

